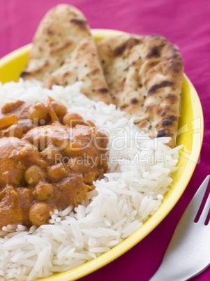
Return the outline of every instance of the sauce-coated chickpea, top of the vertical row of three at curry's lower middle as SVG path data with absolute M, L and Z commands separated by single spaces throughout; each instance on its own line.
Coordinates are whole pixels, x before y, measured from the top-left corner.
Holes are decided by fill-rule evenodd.
M 43 178 L 45 178 L 45 172 L 36 165 L 27 168 L 24 173 L 24 179 L 28 185 L 34 185 Z

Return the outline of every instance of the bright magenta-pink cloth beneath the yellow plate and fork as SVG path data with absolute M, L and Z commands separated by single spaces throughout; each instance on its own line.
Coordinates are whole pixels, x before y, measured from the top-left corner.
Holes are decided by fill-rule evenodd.
M 0 57 L 31 42 L 41 18 L 56 0 L 0 0 Z M 210 1 L 209 0 L 71 0 L 91 28 L 119 29 L 135 34 L 162 34 L 179 46 L 185 73 L 200 96 L 204 111 L 204 141 L 200 163 L 169 215 L 131 250 L 111 264 L 82 278 L 149 280 L 161 263 L 177 223 L 202 180 L 210 173 Z M 210 268 L 193 280 L 210 280 Z

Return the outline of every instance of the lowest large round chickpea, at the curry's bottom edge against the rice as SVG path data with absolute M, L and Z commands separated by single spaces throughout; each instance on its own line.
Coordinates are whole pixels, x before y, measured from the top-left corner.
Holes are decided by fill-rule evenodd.
M 29 208 L 29 219 L 32 224 L 37 226 L 47 224 L 53 210 L 52 206 L 45 202 L 33 203 Z

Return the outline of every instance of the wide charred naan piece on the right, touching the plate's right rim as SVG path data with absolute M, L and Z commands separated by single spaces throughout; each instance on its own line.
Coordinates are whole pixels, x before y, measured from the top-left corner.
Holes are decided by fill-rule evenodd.
M 163 36 L 123 34 L 98 42 L 98 55 L 114 103 L 152 138 L 174 147 L 183 82 L 179 51 Z

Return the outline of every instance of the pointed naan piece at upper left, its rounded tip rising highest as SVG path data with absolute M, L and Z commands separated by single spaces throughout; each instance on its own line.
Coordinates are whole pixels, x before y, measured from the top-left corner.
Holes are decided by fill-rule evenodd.
M 89 99 L 112 103 L 87 19 L 67 4 L 55 6 L 43 17 L 21 77 L 36 78 L 49 88 L 82 80 L 81 92 Z

